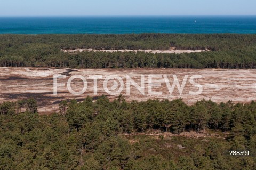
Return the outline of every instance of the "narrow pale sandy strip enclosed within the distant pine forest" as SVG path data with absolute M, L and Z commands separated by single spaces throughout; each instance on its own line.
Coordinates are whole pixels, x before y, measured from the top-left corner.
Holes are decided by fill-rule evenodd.
M 171 54 L 171 53 L 175 53 L 175 54 L 181 54 L 181 53 L 198 53 L 198 52 L 202 52 L 205 50 L 93 50 L 93 49 L 75 49 L 75 50 L 61 50 L 63 52 L 69 52 L 69 53 L 75 53 L 75 52 L 83 52 L 83 51 L 100 51 L 100 52 L 129 52 L 129 51 L 134 51 L 134 52 L 138 52 L 138 51 L 143 51 L 146 53 L 166 53 L 166 54 Z

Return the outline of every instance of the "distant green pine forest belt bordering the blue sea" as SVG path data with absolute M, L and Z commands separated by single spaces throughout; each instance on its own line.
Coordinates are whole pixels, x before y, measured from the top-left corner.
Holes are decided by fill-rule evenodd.
M 61 49 L 207 50 L 64 53 Z M 0 35 L 1 67 L 256 68 L 255 34 Z

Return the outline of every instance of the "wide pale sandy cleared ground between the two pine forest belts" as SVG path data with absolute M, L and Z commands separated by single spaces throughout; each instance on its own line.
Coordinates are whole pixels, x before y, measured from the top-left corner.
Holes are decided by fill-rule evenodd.
M 67 84 L 72 75 L 84 76 L 88 87 L 83 95 L 73 95 L 65 87 L 58 87 L 58 94 L 53 95 L 53 75 L 62 74 L 66 78 L 59 78 L 58 83 Z M 131 94 L 126 93 L 126 75 L 129 75 L 140 85 L 141 74 L 145 75 L 145 95 L 142 95 L 134 86 L 131 85 Z M 158 78 L 161 87 L 153 87 L 153 91 L 162 91 L 162 95 L 148 95 L 148 75 L 162 74 L 167 75 L 170 84 L 173 82 L 173 75 L 182 83 L 185 75 L 188 75 L 187 83 L 180 95 L 178 88 L 175 87 L 172 96 L 166 86 L 164 78 Z M 93 94 L 93 79 L 89 75 L 102 75 L 98 80 L 98 94 Z M 256 70 L 225 70 L 225 69 L 51 69 L 51 68 L 0 68 L 0 103 L 6 100 L 15 101 L 23 98 L 35 98 L 38 101 L 39 112 L 49 113 L 58 110 L 58 104 L 64 99 L 77 99 L 83 101 L 89 95 L 97 99 L 98 96 L 105 94 L 110 99 L 117 97 L 109 95 L 103 89 L 103 81 L 109 75 L 118 75 L 124 81 L 124 89 L 121 92 L 128 101 L 147 99 L 178 99 L 188 104 L 193 104 L 197 100 L 211 99 L 214 102 L 233 102 L 249 103 L 256 99 Z M 201 79 L 194 81 L 203 86 L 203 92 L 199 95 L 190 95 L 189 91 L 198 91 L 198 87 L 189 82 L 193 75 L 201 75 Z M 154 78 L 153 81 L 157 80 Z M 119 83 L 109 81 L 109 89 L 118 86 Z M 81 91 L 83 82 L 81 79 L 74 79 L 71 87 L 74 91 Z

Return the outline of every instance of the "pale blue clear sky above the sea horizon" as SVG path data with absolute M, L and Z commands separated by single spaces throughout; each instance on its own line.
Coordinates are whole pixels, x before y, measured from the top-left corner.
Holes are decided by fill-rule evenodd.
M 1 0 L 0 16 L 256 15 L 255 0 Z

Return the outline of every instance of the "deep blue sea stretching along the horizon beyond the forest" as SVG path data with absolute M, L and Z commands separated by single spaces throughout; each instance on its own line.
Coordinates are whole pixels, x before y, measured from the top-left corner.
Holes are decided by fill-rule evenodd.
M 0 34 L 255 34 L 255 17 L 0 17 Z

